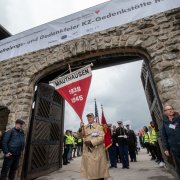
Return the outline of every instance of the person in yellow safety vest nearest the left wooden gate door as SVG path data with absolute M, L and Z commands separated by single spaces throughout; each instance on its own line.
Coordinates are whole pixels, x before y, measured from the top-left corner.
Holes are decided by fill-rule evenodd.
M 70 150 L 71 145 L 71 137 L 69 130 L 66 130 L 64 135 L 64 154 L 63 154 L 63 165 L 67 165 L 69 163 L 68 161 L 68 153 Z

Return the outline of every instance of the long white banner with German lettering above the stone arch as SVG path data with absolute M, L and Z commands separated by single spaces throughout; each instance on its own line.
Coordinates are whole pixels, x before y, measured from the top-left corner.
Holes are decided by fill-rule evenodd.
M 113 0 L 0 41 L 0 61 L 180 7 L 180 0 Z

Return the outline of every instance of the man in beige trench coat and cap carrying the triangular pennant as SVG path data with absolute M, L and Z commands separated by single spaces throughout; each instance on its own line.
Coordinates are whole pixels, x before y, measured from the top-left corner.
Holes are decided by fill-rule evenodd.
M 104 131 L 94 121 L 94 114 L 87 114 L 88 125 L 81 123 L 81 134 L 84 137 L 81 175 L 88 180 L 104 180 L 109 177 L 107 159 L 103 145 Z

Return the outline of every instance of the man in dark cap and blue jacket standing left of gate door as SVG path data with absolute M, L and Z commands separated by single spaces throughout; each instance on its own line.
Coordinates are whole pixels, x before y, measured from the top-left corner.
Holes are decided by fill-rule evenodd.
M 17 119 L 15 127 L 4 134 L 2 140 L 2 150 L 4 153 L 4 162 L 1 170 L 1 180 L 14 180 L 18 168 L 21 152 L 24 150 L 24 121 Z

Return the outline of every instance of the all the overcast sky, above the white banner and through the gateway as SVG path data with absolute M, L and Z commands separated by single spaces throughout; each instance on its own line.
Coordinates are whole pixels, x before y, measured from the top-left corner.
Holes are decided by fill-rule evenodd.
M 0 24 L 16 34 L 68 14 L 106 2 L 106 0 L 0 0 Z M 103 104 L 106 120 L 131 121 L 137 130 L 151 119 L 140 80 L 142 61 L 93 71 L 92 83 L 84 111 L 94 112 L 97 99 L 99 115 Z M 79 118 L 66 103 L 65 129 L 76 130 Z

